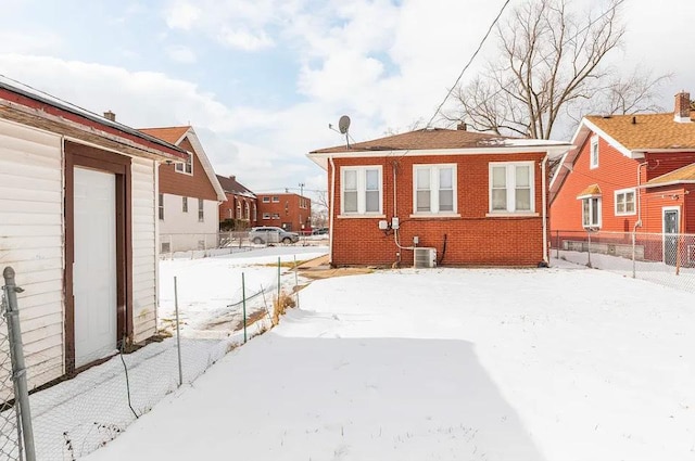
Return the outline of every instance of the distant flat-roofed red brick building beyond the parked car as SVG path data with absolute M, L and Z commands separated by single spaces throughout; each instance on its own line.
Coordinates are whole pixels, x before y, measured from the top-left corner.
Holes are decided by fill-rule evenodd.
M 258 226 L 277 226 L 292 232 L 312 230 L 312 201 L 286 192 L 257 194 Z

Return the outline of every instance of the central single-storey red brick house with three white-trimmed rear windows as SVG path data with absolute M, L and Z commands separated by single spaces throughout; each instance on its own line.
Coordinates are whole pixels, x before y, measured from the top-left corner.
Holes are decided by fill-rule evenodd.
M 547 264 L 546 161 L 568 149 L 462 126 L 313 151 L 328 172 L 331 264 Z

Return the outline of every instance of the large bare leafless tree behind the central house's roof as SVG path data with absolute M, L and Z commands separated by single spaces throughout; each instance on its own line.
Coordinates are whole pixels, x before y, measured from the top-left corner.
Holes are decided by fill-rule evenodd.
M 654 88 L 666 76 L 652 79 L 635 72 L 615 78 L 602 65 L 621 42 L 624 0 L 609 0 L 604 11 L 579 15 L 568 3 L 528 0 L 506 24 L 498 24 L 498 60 L 456 89 L 458 111 L 446 118 L 479 131 L 549 139 L 558 118 L 574 118 L 587 101 L 605 101 L 602 113 L 653 110 Z

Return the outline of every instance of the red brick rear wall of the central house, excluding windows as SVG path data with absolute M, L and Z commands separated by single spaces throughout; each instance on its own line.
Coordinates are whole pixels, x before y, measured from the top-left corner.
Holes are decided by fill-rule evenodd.
M 332 262 L 343 265 L 378 265 L 395 262 L 413 265 L 413 252 L 399 249 L 393 232 L 378 229 L 381 219 L 400 218 L 400 244 L 437 248 L 442 265 L 535 266 L 543 260 L 542 175 L 544 154 L 400 156 L 380 158 L 337 158 L 336 203 L 333 214 Z M 535 212 L 538 217 L 485 217 L 489 213 L 489 163 L 534 161 Z M 410 218 L 413 214 L 413 165 L 457 164 L 457 213 L 455 218 Z M 340 168 L 343 166 L 381 165 L 386 218 L 341 218 Z M 396 167 L 396 206 L 393 204 L 393 167 Z M 330 191 L 331 170 L 328 170 Z M 446 249 L 444 252 L 444 241 Z

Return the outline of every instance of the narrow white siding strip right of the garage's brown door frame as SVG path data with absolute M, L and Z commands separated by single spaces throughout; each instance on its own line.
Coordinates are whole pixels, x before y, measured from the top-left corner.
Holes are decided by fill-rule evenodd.
M 156 330 L 157 193 L 155 163 L 132 158 L 132 329 L 134 341 L 152 336 Z M 178 210 L 181 212 L 180 201 Z

